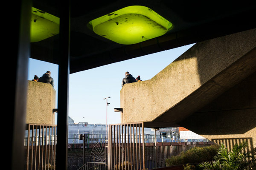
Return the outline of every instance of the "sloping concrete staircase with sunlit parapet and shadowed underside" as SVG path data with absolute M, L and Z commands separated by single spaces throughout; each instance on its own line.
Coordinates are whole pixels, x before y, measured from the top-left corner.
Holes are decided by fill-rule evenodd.
M 256 29 L 198 42 L 152 79 L 124 85 L 121 122 L 179 127 L 255 71 Z

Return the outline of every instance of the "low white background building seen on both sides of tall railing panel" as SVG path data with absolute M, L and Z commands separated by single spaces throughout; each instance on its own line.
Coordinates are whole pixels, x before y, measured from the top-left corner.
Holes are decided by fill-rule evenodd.
M 159 128 L 155 131 L 152 128 L 145 128 L 145 142 L 154 143 L 155 136 L 157 142 L 204 142 L 207 141 L 202 136 L 187 130 L 183 127 Z M 79 140 L 80 134 L 86 134 L 88 143 L 97 143 L 107 137 L 107 126 L 101 124 L 88 124 L 87 122 L 74 123 L 69 117 L 68 143 L 83 143 Z M 142 138 L 141 138 L 142 139 Z

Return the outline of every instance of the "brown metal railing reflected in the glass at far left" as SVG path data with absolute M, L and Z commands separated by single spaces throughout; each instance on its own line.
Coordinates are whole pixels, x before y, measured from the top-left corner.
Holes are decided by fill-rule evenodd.
M 26 170 L 54 170 L 57 125 L 27 124 Z

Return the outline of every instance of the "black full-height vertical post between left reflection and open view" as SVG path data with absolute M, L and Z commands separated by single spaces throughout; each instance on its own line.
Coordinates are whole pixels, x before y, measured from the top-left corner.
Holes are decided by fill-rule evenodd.
M 56 169 L 67 170 L 68 145 L 68 94 L 70 75 L 70 0 L 61 2 L 58 69 L 58 144 L 56 145 Z

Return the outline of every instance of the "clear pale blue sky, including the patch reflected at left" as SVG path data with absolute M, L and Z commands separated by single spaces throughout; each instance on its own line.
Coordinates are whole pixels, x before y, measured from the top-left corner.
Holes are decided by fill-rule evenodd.
M 120 113 L 114 112 L 114 108 L 120 107 L 121 82 L 125 72 L 129 71 L 135 78 L 140 75 L 142 80 L 151 79 L 192 45 L 194 44 L 70 74 L 69 116 L 74 122 L 106 124 L 106 100 L 103 98 L 110 96 L 108 124 L 120 123 Z M 29 80 L 35 74 L 41 77 L 48 70 L 51 71 L 58 95 L 58 65 L 29 59 Z M 56 100 L 56 108 L 57 103 Z

